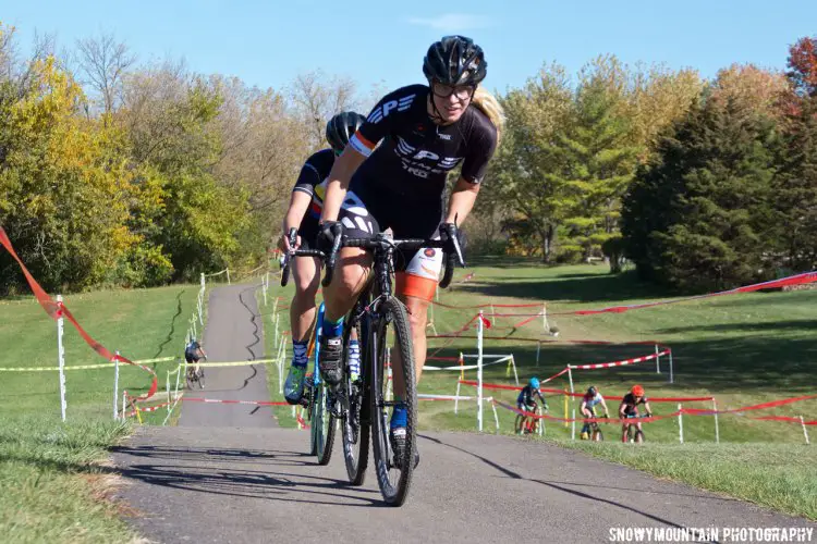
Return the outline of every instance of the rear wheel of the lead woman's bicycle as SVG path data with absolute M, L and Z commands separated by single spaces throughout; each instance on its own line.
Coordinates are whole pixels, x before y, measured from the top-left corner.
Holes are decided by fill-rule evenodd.
M 346 327 L 343 332 L 343 368 L 345 369 L 345 375 L 343 376 L 343 387 L 345 391 L 346 409 L 344 410 L 345 417 L 341 421 L 341 434 L 343 440 L 343 459 L 346 463 L 346 474 L 349 475 L 349 482 L 352 485 L 362 485 L 366 479 L 366 467 L 369 462 L 369 431 L 368 424 L 362 424 L 362 421 L 367 419 L 368 415 L 368 395 L 365 395 L 365 371 L 362 369 L 361 378 L 363 380 L 359 384 L 353 384 L 349 373 L 349 344 L 352 336 L 352 331 L 357 331 L 357 338 L 359 343 L 364 342 L 361 330 L 357 326 Z M 365 349 L 361 349 L 361 354 L 365 354 Z M 362 366 L 365 368 L 363 361 Z

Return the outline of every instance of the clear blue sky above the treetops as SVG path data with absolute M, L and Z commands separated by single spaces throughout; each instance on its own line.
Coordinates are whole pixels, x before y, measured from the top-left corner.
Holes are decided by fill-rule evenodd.
M 56 33 L 58 48 L 112 32 L 142 61 L 183 57 L 196 72 L 273 88 L 314 69 L 362 90 L 419 83 L 429 44 L 459 33 L 483 46 L 486 85 L 503 91 L 544 62 L 575 73 L 608 52 L 705 77 L 732 62 L 783 69 L 788 47 L 817 33 L 817 1 L 0 0 L 0 21 L 25 47 L 35 29 Z

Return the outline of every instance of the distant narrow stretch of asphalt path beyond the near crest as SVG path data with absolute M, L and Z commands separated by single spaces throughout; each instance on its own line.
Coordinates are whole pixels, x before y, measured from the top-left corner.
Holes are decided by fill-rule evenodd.
M 258 285 L 217 287 L 210 293 L 204 347 L 208 362 L 264 358 L 264 329 L 255 299 Z M 205 368 L 205 388 L 187 397 L 269 400 L 265 364 Z M 183 401 L 180 426 L 278 426 L 268 406 Z

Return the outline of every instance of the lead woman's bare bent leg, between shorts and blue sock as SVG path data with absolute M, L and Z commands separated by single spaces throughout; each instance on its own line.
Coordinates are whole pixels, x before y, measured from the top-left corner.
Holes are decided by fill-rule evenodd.
M 324 288 L 325 319 L 338 321 L 352 309 L 370 271 L 370 255 L 356 247 L 341 248 L 332 283 Z

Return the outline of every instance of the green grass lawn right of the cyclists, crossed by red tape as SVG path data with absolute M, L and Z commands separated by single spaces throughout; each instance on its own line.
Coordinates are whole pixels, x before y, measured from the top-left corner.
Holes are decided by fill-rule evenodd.
M 667 358 L 661 360 L 661 373 L 655 361 L 605 370 L 573 372 L 575 391 L 596 385 L 605 396 L 620 396 L 635 384 L 645 386 L 648 397 L 715 396 L 719 409 L 777 400 L 817 393 L 817 290 L 792 293 L 755 293 L 703 300 L 679 302 L 624 313 L 573 316 L 577 309 L 632 305 L 667 298 L 655 286 L 639 283 L 633 272 L 610 275 L 603 265 L 545 268 L 519 260 L 484 260 L 465 271 L 474 273 L 464 283 L 455 283 L 441 290 L 439 301 L 449 306 L 478 304 L 547 302 L 549 325 L 557 325 L 557 338 L 546 334 L 541 318 L 513 329 L 527 319 L 524 316 L 489 317 L 491 329 L 486 335 L 505 339 L 487 339 L 485 354 L 513 354 L 520 383 L 529 376 L 550 376 L 565 364 L 615 361 L 654 353 L 653 345 L 632 342 L 656 341 L 673 351 L 674 383 L 669 383 Z M 456 277 L 465 274 L 458 272 Z M 455 280 L 456 282 L 456 280 Z M 285 300 L 291 287 L 278 288 Z M 275 290 L 275 289 L 273 289 Z M 475 314 L 474 309 L 449 309 L 437 306 L 434 322 L 438 333 L 455 332 Z M 486 313 L 536 313 L 538 308 L 491 308 Z M 564 312 L 564 313 L 563 313 Z M 566 313 L 566 314 L 565 314 Z M 266 322 L 265 322 L 266 323 Z M 429 333 L 430 333 L 429 329 Z M 472 327 L 464 335 L 475 335 Z M 537 343 L 541 339 L 537 364 Z M 614 345 L 577 344 L 575 341 L 607 341 Z M 460 353 L 476 354 L 473 338 L 429 339 L 429 356 L 456 357 Z M 468 362 L 473 363 L 473 359 Z M 429 364 L 450 366 L 453 362 L 429 361 Z M 476 372 L 465 373 L 475 380 Z M 459 372 L 426 371 L 419 385 L 420 393 L 453 395 Z M 505 364 L 485 368 L 485 382 L 514 384 L 513 373 Z M 546 386 L 566 390 L 566 375 Z M 277 390 L 276 390 L 277 391 Z M 463 387 L 462 395 L 474 395 L 473 387 Z M 515 404 L 515 393 L 486 391 L 486 396 Z M 571 416 L 578 403 L 565 406 L 563 395 L 548 397 L 551 416 Z M 612 415 L 618 403 L 609 400 Z M 684 407 L 712 407 L 711 403 L 685 403 Z M 657 415 L 672 413 L 678 403 L 653 403 Z M 515 415 L 498 409 L 499 432 L 512 433 Z M 683 416 L 684 444 L 679 444 L 679 421 L 666 419 L 645 425 L 648 444 L 644 448 L 623 448 L 617 444 L 620 426 L 605 425 L 607 441 L 601 445 L 571 442 L 571 425 L 545 421 L 546 440 L 556 440 L 571 447 L 580 447 L 593 455 L 648 470 L 661 477 L 687 481 L 714 491 L 730 493 L 741 498 L 779 508 L 797 515 L 815 516 L 814 492 L 808 483 L 814 471 L 801 470 L 804 462 L 813 462 L 813 449 L 804 445 L 800 424 L 764 422 L 752 419 L 760 416 L 804 416 L 817 419 L 817 400 L 807 400 L 773 409 L 745 413 L 721 415 L 718 419 L 720 444 L 716 445 L 712 416 Z M 495 432 L 490 405 L 485 406 L 484 430 Z M 476 430 L 475 401 L 461 401 L 458 413 L 453 403 L 423 401 L 419 420 L 422 429 Z M 578 430 L 576 429 L 576 437 Z M 815 428 L 809 428 L 815 429 Z M 814 433 L 817 435 L 817 432 Z M 763 443 L 763 444 L 758 444 Z M 660 449 L 661 460 L 650 462 Z M 777 480 L 793 483 L 786 487 L 776 478 L 757 475 L 761 470 L 752 467 L 756 456 L 765 452 L 773 457 Z M 710 453 L 720 454 L 715 455 Z M 694 474 L 694 467 L 712 460 L 711 466 Z M 716 462 L 717 461 L 717 462 Z M 719 475 L 720 474 L 720 475 Z M 748 479 L 737 478 L 748 474 Z M 756 477 L 757 475 L 757 477 Z M 814 485 L 812 485 L 814 487 Z

